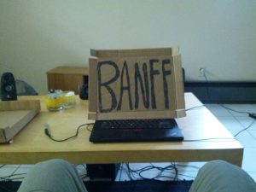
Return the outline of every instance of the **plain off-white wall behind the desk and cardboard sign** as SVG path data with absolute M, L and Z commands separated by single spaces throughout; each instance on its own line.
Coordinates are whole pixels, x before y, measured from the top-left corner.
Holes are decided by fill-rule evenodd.
M 87 66 L 90 48 L 178 45 L 187 80 L 256 80 L 255 0 L 1 0 L 0 73 L 40 94 L 46 71 Z

